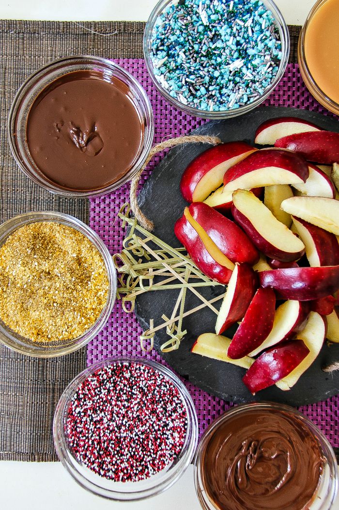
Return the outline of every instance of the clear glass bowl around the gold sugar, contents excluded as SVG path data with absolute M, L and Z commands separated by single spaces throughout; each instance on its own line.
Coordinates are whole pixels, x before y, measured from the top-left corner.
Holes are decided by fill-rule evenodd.
M 32 340 L 15 333 L 15 331 L 9 328 L 0 319 L 0 342 L 4 345 L 20 352 L 21 354 L 35 356 L 36 358 L 55 358 L 56 356 L 63 356 L 64 354 L 69 354 L 70 352 L 80 349 L 84 345 L 88 344 L 88 342 L 101 331 L 108 321 L 113 309 L 117 290 L 117 275 L 110 252 L 99 236 L 81 220 L 74 218 L 73 216 L 69 216 L 68 214 L 57 212 L 32 212 L 15 216 L 14 218 L 5 221 L 5 223 L 0 226 L 0 246 L 2 246 L 8 237 L 18 228 L 23 225 L 41 221 L 57 222 L 67 225 L 86 236 L 101 254 L 102 259 L 105 262 L 107 277 L 109 280 L 109 290 L 105 307 L 102 309 L 101 314 L 94 324 L 80 337 L 59 342 L 33 342 Z

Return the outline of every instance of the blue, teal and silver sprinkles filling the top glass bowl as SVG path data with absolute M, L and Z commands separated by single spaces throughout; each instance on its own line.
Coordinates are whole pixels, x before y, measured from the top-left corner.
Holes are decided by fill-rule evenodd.
M 271 85 L 281 60 L 273 14 L 260 0 L 179 0 L 155 21 L 155 79 L 182 105 L 237 109 Z

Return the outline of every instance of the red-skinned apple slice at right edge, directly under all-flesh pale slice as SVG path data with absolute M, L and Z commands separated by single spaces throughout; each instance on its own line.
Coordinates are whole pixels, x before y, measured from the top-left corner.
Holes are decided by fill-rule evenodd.
M 300 218 L 293 217 L 293 224 L 305 245 L 310 266 L 339 265 L 339 243 L 334 234 Z

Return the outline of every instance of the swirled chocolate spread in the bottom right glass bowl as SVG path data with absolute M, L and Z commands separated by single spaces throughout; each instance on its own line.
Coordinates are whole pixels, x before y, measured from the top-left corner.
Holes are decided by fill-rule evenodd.
M 317 490 L 324 461 L 298 417 L 253 409 L 215 430 L 202 465 L 206 493 L 221 510 L 301 510 Z

